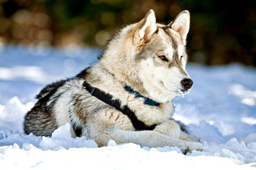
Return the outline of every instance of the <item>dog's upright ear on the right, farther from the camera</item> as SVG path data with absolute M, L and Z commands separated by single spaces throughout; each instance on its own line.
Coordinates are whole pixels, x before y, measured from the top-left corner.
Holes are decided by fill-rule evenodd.
M 179 15 L 167 26 L 171 29 L 174 29 L 177 33 L 179 33 L 181 40 L 184 44 L 186 44 L 186 37 L 188 35 L 189 30 L 189 20 L 190 15 L 187 10 L 180 12 Z

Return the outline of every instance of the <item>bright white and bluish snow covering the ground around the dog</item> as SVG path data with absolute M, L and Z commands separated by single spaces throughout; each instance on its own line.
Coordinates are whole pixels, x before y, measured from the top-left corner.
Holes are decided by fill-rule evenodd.
M 34 96 L 46 84 L 79 73 L 96 61 L 100 50 L 3 46 L 0 50 L 0 168 L 90 169 L 255 169 L 256 69 L 187 65 L 194 85 L 176 97 L 176 120 L 200 138 L 203 150 L 183 155 L 177 147 L 140 147 L 134 143 L 107 147 L 85 137 L 72 138 L 70 126 L 52 137 L 25 135 L 23 120 Z

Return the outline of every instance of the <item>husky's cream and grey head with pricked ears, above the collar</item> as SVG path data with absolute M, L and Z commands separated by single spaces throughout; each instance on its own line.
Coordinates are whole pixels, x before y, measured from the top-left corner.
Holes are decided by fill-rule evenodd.
M 115 53 L 109 50 L 110 70 L 135 91 L 160 103 L 187 94 L 193 84 L 185 71 L 188 30 L 188 11 L 180 12 L 168 25 L 156 23 L 154 11 L 148 11 L 139 23 L 123 28 L 110 41 L 108 48 L 115 49 Z

